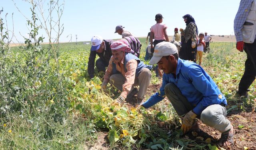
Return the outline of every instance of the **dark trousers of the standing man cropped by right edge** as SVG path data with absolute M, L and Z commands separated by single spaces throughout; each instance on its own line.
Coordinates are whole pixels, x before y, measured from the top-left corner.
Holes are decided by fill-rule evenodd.
M 250 87 L 256 76 L 256 40 L 252 44 L 244 43 L 244 51 L 247 54 L 244 75 L 242 76 L 238 92 L 244 93 Z

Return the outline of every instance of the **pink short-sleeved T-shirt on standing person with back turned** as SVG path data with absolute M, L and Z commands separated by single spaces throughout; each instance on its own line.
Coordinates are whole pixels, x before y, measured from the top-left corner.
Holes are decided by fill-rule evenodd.
M 164 29 L 167 28 L 166 24 L 158 23 L 151 27 L 152 32 L 154 32 L 154 39 L 155 40 L 166 40 L 164 37 Z

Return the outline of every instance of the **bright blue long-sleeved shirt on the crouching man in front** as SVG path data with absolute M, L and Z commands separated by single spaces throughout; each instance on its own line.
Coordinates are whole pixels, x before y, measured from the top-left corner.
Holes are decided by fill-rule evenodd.
M 150 108 L 163 100 L 165 97 L 164 87 L 168 83 L 174 83 L 180 89 L 191 106 L 194 106 L 193 111 L 198 115 L 212 104 L 227 105 L 225 96 L 201 66 L 178 58 L 176 78 L 173 74 L 164 74 L 160 91 L 144 102 L 143 106 Z

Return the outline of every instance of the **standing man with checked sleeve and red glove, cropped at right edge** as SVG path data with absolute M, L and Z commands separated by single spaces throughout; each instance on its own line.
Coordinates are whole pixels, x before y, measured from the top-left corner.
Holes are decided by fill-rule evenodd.
M 237 92 L 239 96 L 245 97 L 248 96 L 248 88 L 254 82 L 256 76 L 255 9 L 254 0 L 241 0 L 234 20 L 236 49 L 240 52 L 244 50 L 247 54 L 244 75 L 239 82 Z M 248 41 L 248 37 L 252 37 L 252 39 Z

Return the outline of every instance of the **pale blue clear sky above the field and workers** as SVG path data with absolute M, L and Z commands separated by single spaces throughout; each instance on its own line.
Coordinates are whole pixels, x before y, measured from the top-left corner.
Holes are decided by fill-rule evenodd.
M 50 0 L 40 1 L 47 14 L 47 3 Z M 64 31 L 60 36 L 60 42 L 70 42 L 71 36 L 72 42 L 75 42 L 76 35 L 77 41 L 90 41 L 95 35 L 100 35 L 103 39 L 122 38 L 114 33 L 117 25 L 124 26 L 124 29 L 135 37 L 145 37 L 150 32 L 150 27 L 156 24 L 155 15 L 158 13 L 162 14 L 163 23 L 168 26 L 168 36 L 174 35 L 174 28 L 186 28 L 182 18 L 185 14 L 193 16 L 199 33 L 234 35 L 234 18 L 240 0 L 59 0 L 59 2 L 60 4 L 64 2 L 64 12 L 60 20 Z M 9 30 L 12 30 L 13 13 L 15 35 L 13 41 L 24 43 L 24 37 L 28 37 L 29 33 L 26 18 L 31 19 L 31 4 L 26 0 L 0 0 L 0 4 L 0 9 L 3 8 L 1 18 L 4 22 L 7 20 Z M 8 15 L 5 17 L 6 13 Z M 56 15 L 53 17 L 56 18 Z M 47 39 L 43 28 L 40 29 L 39 35 Z

